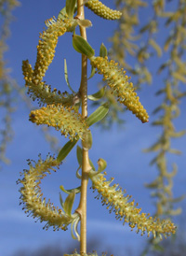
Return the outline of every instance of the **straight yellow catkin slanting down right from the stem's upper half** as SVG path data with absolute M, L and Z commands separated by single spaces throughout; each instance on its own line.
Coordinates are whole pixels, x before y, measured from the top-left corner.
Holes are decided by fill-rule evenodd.
M 97 68 L 99 74 L 103 75 L 103 80 L 107 81 L 120 103 L 131 110 L 140 121 L 149 121 L 147 111 L 140 104 L 140 97 L 134 91 L 132 82 L 128 81 L 129 78 L 123 68 L 119 69 L 118 64 L 113 60 L 109 62 L 107 57 L 91 57 L 90 64 Z

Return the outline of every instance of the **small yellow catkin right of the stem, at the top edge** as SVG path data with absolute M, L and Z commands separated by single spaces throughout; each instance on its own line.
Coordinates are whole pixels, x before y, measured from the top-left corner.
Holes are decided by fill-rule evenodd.
M 99 0 L 86 1 L 85 6 L 91 9 L 95 14 L 106 20 L 118 20 L 122 13 L 103 5 Z

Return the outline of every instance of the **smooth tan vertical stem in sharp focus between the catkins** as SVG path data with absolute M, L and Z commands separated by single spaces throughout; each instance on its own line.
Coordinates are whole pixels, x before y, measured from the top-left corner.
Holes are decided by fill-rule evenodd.
M 84 1 L 77 0 L 77 19 L 84 20 Z M 86 28 L 80 26 L 80 34 L 86 40 Z M 82 54 L 82 74 L 81 74 L 81 86 L 80 93 L 82 98 L 82 116 L 87 117 L 87 58 Z M 88 158 L 88 150 L 83 149 L 82 160 L 82 179 L 81 179 L 81 196 L 79 206 L 76 211 L 81 216 L 80 226 L 80 253 L 86 253 L 86 193 L 88 172 L 91 169 Z

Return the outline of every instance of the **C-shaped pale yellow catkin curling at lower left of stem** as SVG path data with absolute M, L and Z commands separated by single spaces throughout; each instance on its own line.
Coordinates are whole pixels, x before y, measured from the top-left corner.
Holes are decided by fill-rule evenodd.
M 18 180 L 18 183 L 22 184 L 20 204 L 24 205 L 25 213 L 32 215 L 33 219 L 46 221 L 44 227 L 46 230 L 50 226 L 53 226 L 54 231 L 66 230 L 67 226 L 78 218 L 78 215 L 75 213 L 69 216 L 58 207 L 53 206 L 49 200 L 46 203 L 46 198 L 42 199 L 43 194 L 39 187 L 41 179 L 46 177 L 46 173 L 50 174 L 51 170 L 56 171 L 54 167 L 59 167 L 59 162 L 47 155 L 46 161 L 39 156 L 39 161 L 33 163 L 29 160 L 29 170 L 24 170 L 23 178 Z

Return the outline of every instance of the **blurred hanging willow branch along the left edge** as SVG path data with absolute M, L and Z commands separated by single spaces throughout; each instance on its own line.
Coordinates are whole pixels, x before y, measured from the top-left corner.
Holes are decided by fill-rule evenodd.
M 15 99 L 16 82 L 9 74 L 5 53 L 7 51 L 7 37 L 10 34 L 9 25 L 12 21 L 12 11 L 19 7 L 17 0 L 0 1 L 0 162 L 9 163 L 6 156 L 7 143 L 12 139 L 12 112 Z M 1 163 L 0 163 L 1 168 Z

